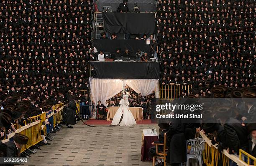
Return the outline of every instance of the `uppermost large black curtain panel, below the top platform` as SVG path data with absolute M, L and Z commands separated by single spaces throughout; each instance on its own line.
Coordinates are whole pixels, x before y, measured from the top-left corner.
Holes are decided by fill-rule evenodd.
M 153 34 L 154 13 L 110 13 L 103 12 L 104 31 L 108 33 Z

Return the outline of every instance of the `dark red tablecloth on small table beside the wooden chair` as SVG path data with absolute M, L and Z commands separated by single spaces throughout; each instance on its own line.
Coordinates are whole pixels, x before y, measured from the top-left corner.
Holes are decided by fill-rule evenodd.
M 141 161 L 151 161 L 148 156 L 148 149 L 151 148 L 151 143 L 158 140 L 158 136 L 144 136 L 142 133 L 142 145 L 141 145 Z

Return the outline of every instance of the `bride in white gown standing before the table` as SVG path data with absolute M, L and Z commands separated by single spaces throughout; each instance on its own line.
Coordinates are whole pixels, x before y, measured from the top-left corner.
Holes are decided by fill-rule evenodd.
M 121 116 L 123 114 L 123 119 L 120 122 L 120 126 L 133 126 L 136 125 L 136 121 L 134 120 L 133 114 L 128 109 L 129 107 L 129 101 L 128 101 L 128 95 L 123 95 L 123 99 L 119 102 L 120 107 L 115 113 L 115 116 L 112 120 L 112 125 L 118 125 L 121 119 Z

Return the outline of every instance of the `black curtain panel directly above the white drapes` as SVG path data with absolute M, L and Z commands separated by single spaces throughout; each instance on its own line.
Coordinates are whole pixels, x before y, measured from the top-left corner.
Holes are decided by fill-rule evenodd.
M 93 78 L 159 79 L 159 62 L 92 62 Z

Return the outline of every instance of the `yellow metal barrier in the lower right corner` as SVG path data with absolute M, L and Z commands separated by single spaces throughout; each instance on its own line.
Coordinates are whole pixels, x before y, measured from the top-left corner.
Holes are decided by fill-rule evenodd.
M 241 158 L 239 159 L 236 155 L 229 154 L 227 150 L 223 150 L 222 153 L 219 153 L 218 147 L 211 144 L 211 140 L 205 136 L 202 132 L 200 132 L 203 140 L 205 141 L 205 149 L 202 152 L 202 160 L 206 166 L 248 166 L 248 164 L 243 161 Z M 244 151 L 241 150 L 241 153 Z M 246 153 L 246 152 L 245 152 Z M 247 154 L 247 156 L 252 157 Z M 254 164 L 255 164 L 254 158 Z M 255 166 L 255 165 L 254 165 Z

